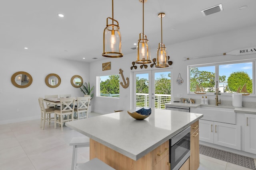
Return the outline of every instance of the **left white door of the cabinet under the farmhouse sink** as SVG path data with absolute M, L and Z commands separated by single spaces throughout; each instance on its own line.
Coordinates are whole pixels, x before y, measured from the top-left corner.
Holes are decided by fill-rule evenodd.
M 199 129 L 200 129 L 200 136 L 199 140 L 214 143 L 214 122 L 208 120 L 199 120 Z

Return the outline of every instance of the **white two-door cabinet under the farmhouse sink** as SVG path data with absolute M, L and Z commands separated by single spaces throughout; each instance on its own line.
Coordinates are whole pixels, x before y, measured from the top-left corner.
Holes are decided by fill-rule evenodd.
M 199 120 L 200 141 L 241 150 L 241 126 Z

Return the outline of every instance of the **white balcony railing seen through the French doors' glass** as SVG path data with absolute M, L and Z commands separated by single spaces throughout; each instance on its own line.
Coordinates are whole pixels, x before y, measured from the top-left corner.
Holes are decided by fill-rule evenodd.
M 155 94 L 155 108 L 164 109 L 165 103 L 171 102 L 170 94 Z M 148 94 L 136 93 L 136 107 L 148 107 Z

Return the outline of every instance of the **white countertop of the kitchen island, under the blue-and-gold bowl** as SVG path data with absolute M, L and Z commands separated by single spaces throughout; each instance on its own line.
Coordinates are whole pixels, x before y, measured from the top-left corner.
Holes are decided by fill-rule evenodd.
M 152 109 L 148 118 L 136 120 L 127 111 L 120 111 L 70 121 L 66 126 L 138 160 L 201 117 L 198 113 Z

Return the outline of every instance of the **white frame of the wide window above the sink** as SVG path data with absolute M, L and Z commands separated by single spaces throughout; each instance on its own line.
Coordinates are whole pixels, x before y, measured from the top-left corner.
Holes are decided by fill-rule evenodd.
M 224 62 L 217 62 L 217 63 L 206 63 L 206 64 L 194 64 L 187 66 L 187 78 L 188 78 L 188 85 L 187 85 L 187 94 L 195 94 L 194 92 L 190 92 L 190 68 L 195 67 L 204 67 L 204 66 L 215 66 L 215 82 L 219 82 L 219 66 L 224 64 L 238 64 L 238 63 L 249 63 L 252 62 L 252 92 L 250 95 L 246 97 L 255 97 L 256 96 L 256 75 L 255 75 L 255 68 L 256 68 L 256 59 L 245 59 L 245 60 L 235 60 L 235 61 L 224 61 Z M 214 95 L 214 92 L 206 92 L 207 95 Z M 234 93 L 221 93 L 222 96 L 232 96 Z

